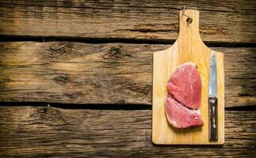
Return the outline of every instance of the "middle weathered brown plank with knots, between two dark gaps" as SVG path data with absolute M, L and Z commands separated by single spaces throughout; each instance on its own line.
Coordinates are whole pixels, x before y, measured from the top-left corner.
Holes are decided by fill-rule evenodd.
M 152 52 L 170 45 L 0 43 L 0 101 L 152 103 Z M 256 104 L 255 48 L 225 55 L 225 106 Z

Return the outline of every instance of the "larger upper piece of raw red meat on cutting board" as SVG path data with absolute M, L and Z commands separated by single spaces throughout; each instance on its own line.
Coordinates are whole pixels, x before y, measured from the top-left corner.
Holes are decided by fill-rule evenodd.
M 198 109 L 201 101 L 201 77 L 195 64 L 187 62 L 172 73 L 168 93 L 179 103 Z

